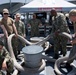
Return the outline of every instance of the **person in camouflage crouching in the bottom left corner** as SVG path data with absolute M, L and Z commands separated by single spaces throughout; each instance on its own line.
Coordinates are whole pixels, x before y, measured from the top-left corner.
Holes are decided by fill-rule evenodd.
M 3 75 L 1 70 L 5 70 L 7 75 L 10 75 L 13 72 L 13 60 L 0 40 L 0 75 Z

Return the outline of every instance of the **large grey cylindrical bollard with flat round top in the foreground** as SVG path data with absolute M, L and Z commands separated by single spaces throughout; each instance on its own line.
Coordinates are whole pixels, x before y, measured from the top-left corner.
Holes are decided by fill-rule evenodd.
M 25 66 L 36 68 L 42 64 L 43 47 L 38 45 L 26 46 L 22 49 L 24 53 Z

